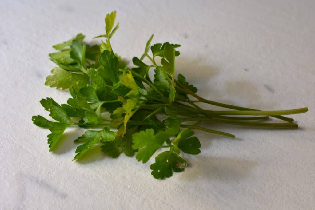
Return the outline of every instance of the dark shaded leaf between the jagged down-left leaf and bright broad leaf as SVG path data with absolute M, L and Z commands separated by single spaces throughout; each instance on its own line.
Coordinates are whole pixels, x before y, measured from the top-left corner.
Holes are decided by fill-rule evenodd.
M 112 141 L 104 141 L 104 145 L 101 146 L 102 151 L 107 153 L 111 157 L 118 157 L 122 150 L 124 151 L 126 156 L 133 156 L 135 154 L 135 150 L 132 149 L 132 134 L 137 131 L 137 127 L 132 127 L 127 129 L 126 134 L 123 137 L 116 137 Z

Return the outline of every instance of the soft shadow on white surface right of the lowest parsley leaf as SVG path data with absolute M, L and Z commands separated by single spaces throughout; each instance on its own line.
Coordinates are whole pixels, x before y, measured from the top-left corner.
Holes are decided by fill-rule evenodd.
M 240 160 L 231 157 L 211 157 L 196 155 L 193 158 L 194 167 L 189 167 L 180 177 L 190 181 L 194 179 L 219 179 L 222 181 L 237 181 L 249 176 L 256 162 Z

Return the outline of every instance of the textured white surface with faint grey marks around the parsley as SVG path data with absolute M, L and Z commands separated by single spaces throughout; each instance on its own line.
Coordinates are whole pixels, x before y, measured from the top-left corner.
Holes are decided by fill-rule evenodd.
M 98 153 L 72 162 L 83 133 L 69 129 L 48 152 L 44 86 L 51 46 L 83 32 L 104 33 L 117 10 L 118 54 L 140 56 L 146 40 L 180 43 L 177 73 L 205 98 L 263 110 L 308 106 L 298 130 L 207 125 L 232 140 L 196 132 L 189 167 L 156 180 L 148 163 Z M 315 1 L 0 1 L 1 209 L 315 209 Z M 206 106 L 204 106 L 206 107 Z

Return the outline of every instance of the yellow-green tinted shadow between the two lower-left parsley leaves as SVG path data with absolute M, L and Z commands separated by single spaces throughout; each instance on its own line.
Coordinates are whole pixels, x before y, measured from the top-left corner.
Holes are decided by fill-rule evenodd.
M 58 141 L 56 149 L 53 151 L 53 153 L 60 155 L 71 151 L 73 148 L 76 148 L 78 144 L 74 143 L 73 141 L 79 136 L 82 136 L 83 133 L 84 130 L 81 128 L 65 131 L 65 133 L 62 134 L 60 140 Z

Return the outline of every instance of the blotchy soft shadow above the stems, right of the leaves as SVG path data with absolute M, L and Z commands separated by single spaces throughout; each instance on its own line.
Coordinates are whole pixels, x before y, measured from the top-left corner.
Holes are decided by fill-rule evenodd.
M 244 76 L 244 78 L 235 80 L 233 77 L 226 76 L 224 78 L 224 84 L 218 85 L 211 82 L 214 77 L 218 76 L 221 72 L 220 67 L 215 64 L 209 63 L 207 58 L 204 56 L 198 57 L 198 59 L 192 60 L 185 55 L 180 55 L 176 57 L 175 73 L 181 73 L 186 76 L 186 81 L 193 84 L 198 88 L 197 94 L 201 97 L 209 100 L 214 100 L 217 102 L 246 106 L 252 109 L 275 109 L 277 106 L 277 101 L 263 101 L 263 95 L 273 94 L 270 92 L 272 88 L 270 85 L 266 88 L 266 84 L 262 85 L 264 88 L 260 88 L 257 84 L 251 81 L 251 78 Z M 200 73 L 202 72 L 202 73 Z M 240 71 L 240 74 L 246 71 Z M 227 96 L 232 96 L 229 98 Z M 193 97 L 192 97 L 193 98 Z M 264 103 L 262 103 L 264 102 Z M 261 107 L 263 104 L 263 107 Z M 201 106 L 213 108 L 215 106 L 201 104 Z M 218 107 L 219 109 L 222 109 Z

